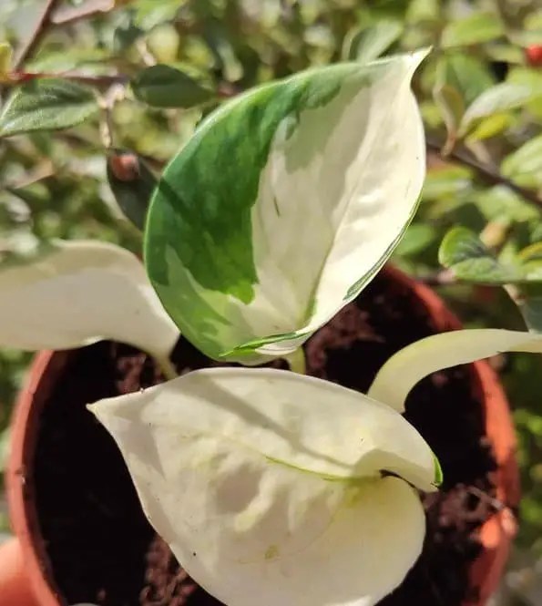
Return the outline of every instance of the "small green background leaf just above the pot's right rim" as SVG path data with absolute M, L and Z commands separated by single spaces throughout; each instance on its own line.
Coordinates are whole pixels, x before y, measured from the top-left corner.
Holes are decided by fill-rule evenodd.
M 455 227 L 446 233 L 438 260 L 467 282 L 506 284 L 525 279 L 519 267 L 499 262 L 477 234 L 465 227 Z

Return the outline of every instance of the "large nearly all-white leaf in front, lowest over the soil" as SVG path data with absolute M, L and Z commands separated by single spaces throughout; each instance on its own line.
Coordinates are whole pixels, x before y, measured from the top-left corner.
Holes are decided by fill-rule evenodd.
M 225 604 L 372 606 L 420 554 L 424 510 L 407 482 L 434 490 L 440 468 L 403 416 L 365 395 L 214 368 L 89 409 L 150 523 Z

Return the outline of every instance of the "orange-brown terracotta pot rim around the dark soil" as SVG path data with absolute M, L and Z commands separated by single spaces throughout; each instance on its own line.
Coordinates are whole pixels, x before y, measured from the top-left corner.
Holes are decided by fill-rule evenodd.
M 403 272 L 390 266 L 383 270 L 394 281 L 401 282 L 414 291 L 433 319 L 435 329 L 446 331 L 461 328 L 461 323 L 445 307 L 445 303 L 429 288 L 415 282 Z M 41 352 L 36 355 L 25 388 L 15 406 L 12 433 L 12 451 L 7 471 L 8 502 L 15 534 L 20 540 L 25 572 L 39 606 L 62 606 L 53 575 L 48 568 L 46 550 L 37 527 L 37 514 L 33 498 L 33 459 L 36 447 L 36 431 L 40 411 L 51 392 L 52 386 L 61 380 L 69 352 Z M 471 365 L 473 385 L 486 411 L 486 430 L 490 437 L 498 464 L 496 471 L 497 499 L 516 505 L 519 502 L 519 478 L 516 465 L 516 438 L 506 395 L 494 371 L 486 362 Z M 471 580 L 479 587 L 482 606 L 503 572 L 512 539 L 516 534 L 516 521 L 509 510 L 498 512 L 488 519 L 480 531 L 484 550 L 472 566 Z M 13 548 L 12 548 L 13 549 Z M 0 570 L 4 562 L 0 560 Z M 0 577 L 1 579 L 1 577 Z M 26 589 L 21 584 L 21 596 Z M 7 594 L 0 584 L 2 606 L 26 606 L 15 596 Z M 469 604 L 468 606 L 474 606 Z M 30 605 L 29 605 L 30 606 Z M 465 604 L 466 606 L 466 604 Z

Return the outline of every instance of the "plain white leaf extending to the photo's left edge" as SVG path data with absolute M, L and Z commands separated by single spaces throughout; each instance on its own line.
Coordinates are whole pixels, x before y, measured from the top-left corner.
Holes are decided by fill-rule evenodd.
M 138 258 L 97 241 L 54 241 L 0 265 L 0 346 L 70 349 L 101 339 L 167 356 L 179 338 Z

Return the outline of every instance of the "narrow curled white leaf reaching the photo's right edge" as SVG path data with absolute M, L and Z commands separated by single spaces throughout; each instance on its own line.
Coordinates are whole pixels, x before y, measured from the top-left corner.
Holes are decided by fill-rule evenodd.
M 368 395 L 403 412 L 406 396 L 425 376 L 502 352 L 542 354 L 542 335 L 497 328 L 433 334 L 394 354 L 374 377 Z

